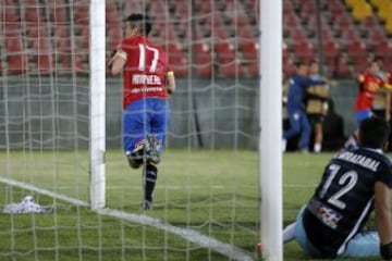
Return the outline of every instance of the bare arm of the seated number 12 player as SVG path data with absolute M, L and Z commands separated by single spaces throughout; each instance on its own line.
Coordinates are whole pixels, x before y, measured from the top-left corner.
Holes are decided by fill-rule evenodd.
M 392 216 L 390 197 L 390 188 L 382 182 L 376 182 L 375 213 L 377 231 L 380 236 L 381 246 L 392 243 Z

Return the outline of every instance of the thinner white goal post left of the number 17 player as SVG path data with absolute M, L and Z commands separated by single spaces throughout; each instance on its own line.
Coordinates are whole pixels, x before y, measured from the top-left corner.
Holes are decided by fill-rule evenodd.
M 106 206 L 106 1 L 90 0 L 90 207 Z

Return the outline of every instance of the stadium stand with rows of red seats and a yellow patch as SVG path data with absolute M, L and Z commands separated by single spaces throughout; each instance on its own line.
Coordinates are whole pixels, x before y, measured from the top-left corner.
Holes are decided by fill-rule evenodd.
M 87 1 L 2 2 L 0 44 L 8 61 L 7 67 L 2 64 L 2 73 L 87 72 Z M 351 77 L 376 54 L 385 55 L 385 67 L 392 67 L 391 0 L 320 2 L 321 46 L 316 1 L 283 0 L 285 74 L 293 73 L 296 60 L 316 58 L 320 48 L 329 76 Z M 258 0 L 195 1 L 194 7 L 182 0 L 107 1 L 108 53 L 122 37 L 122 17 L 147 10 L 155 20 L 151 36 L 167 42 L 177 76 L 211 77 L 213 72 L 218 77 L 258 77 Z

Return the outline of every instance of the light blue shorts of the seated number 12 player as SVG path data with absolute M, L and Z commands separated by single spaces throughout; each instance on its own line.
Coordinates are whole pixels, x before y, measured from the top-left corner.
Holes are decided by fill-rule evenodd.
M 295 223 L 295 238 L 301 247 L 313 258 L 322 258 L 321 252 L 308 240 L 303 225 L 303 212 L 299 211 Z M 351 238 L 345 248 L 340 249 L 338 258 L 380 258 L 380 238 L 376 231 L 359 232 Z

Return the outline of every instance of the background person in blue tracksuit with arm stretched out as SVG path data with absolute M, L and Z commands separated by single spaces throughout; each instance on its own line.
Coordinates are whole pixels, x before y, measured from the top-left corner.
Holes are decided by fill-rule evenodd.
M 283 132 L 282 150 L 285 151 L 287 139 L 301 134 L 299 149 L 302 152 L 307 152 L 310 138 L 310 124 L 305 109 L 306 90 L 311 85 L 319 85 L 324 82 L 309 78 L 309 66 L 304 62 L 296 63 L 295 69 L 296 73 L 289 79 L 286 110 L 290 128 Z

